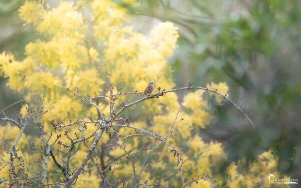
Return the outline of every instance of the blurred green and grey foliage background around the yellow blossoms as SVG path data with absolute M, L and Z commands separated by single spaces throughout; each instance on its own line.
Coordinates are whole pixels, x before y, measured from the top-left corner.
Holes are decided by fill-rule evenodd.
M 56 2 L 56 1 L 46 1 Z M 21 0 L 0 1 L 0 52 L 23 59 L 25 45 L 38 38 L 18 18 Z M 179 48 L 169 64 L 177 87 L 226 82 L 230 98 L 250 116 L 256 128 L 230 103 L 211 103 L 215 118 L 195 130 L 204 140 L 225 145 L 229 161 L 272 149 L 279 171 L 301 179 L 301 1 L 171 0 L 137 1 L 120 6 L 132 15 L 129 25 L 148 34 L 159 22 L 179 27 Z M 0 109 L 22 99 L 0 77 Z M 185 92 L 179 93 L 179 100 Z M 16 116 L 22 103 L 7 110 Z

